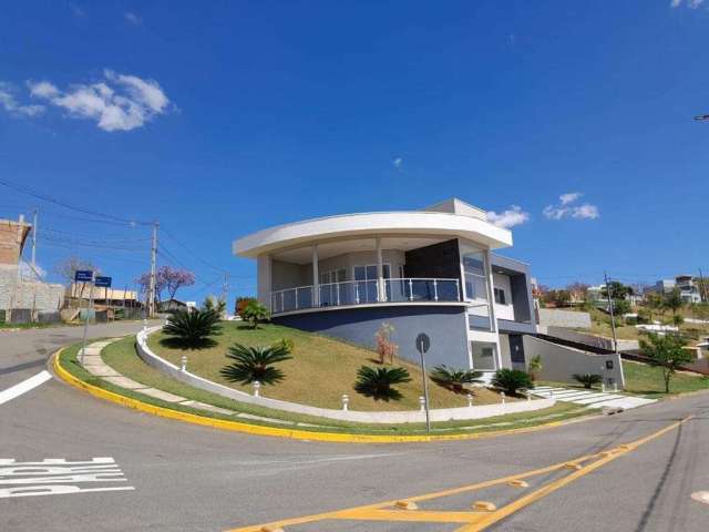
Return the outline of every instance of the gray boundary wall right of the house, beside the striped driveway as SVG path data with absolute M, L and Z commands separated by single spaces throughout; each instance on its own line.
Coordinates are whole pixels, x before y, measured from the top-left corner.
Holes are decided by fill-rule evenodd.
M 576 382 L 574 374 L 597 374 L 603 375 L 606 383 L 608 378 L 614 379 L 618 387 L 624 386 L 623 370 L 619 355 L 592 355 L 571 347 L 559 346 L 551 341 L 542 340 L 533 336 L 525 335 L 524 355 L 527 360 L 532 360 L 540 355 L 542 357 L 542 370 L 538 372 L 540 380 L 552 380 L 555 382 Z M 613 369 L 606 368 L 606 361 L 613 362 Z

